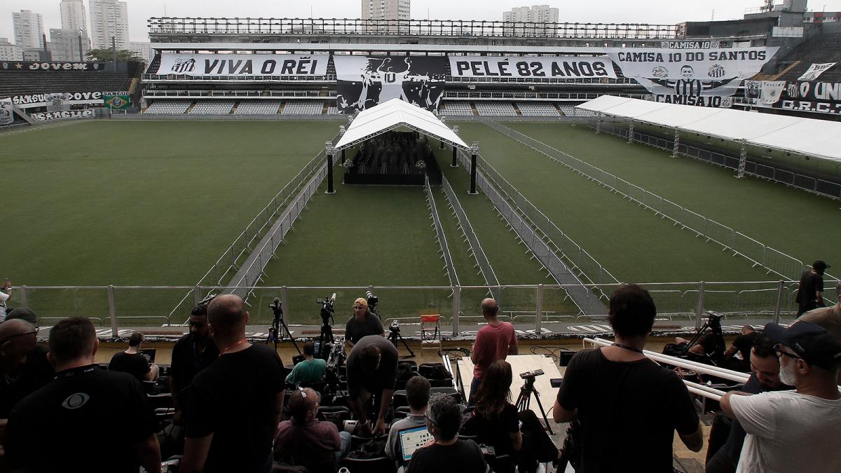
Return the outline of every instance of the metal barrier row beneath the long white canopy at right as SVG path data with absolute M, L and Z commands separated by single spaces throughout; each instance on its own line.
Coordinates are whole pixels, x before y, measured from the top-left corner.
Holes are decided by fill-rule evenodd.
M 599 130 L 608 134 L 628 137 L 628 130 L 618 126 L 601 123 Z M 685 145 L 678 142 L 677 150 L 674 149 L 674 140 L 659 136 L 651 136 L 645 133 L 634 131 L 632 141 L 643 143 L 666 151 L 673 151 L 675 155 L 691 157 L 705 162 L 711 162 L 728 169 L 738 169 L 738 157 L 728 156 L 717 151 L 708 151 L 697 146 Z M 759 162 L 748 161 L 745 164 L 744 173 L 754 178 L 761 178 L 775 183 L 785 184 L 796 189 L 805 190 L 830 199 L 841 199 L 841 183 L 833 183 L 824 179 L 813 178 L 805 174 L 792 173 L 778 167 L 766 166 Z

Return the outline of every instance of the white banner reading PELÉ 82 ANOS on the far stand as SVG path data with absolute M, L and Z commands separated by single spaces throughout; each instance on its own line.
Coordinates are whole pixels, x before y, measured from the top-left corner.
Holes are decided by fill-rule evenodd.
M 450 56 L 452 77 L 616 78 L 606 57 Z

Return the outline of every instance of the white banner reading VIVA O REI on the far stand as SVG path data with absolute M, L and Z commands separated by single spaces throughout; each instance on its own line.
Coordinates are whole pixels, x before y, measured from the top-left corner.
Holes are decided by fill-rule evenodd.
M 161 65 L 150 74 L 187 76 L 324 76 L 326 54 L 161 54 Z

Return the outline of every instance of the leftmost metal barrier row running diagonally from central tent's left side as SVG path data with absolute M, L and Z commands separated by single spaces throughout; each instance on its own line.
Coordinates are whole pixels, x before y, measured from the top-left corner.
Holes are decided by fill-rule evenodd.
M 333 137 L 331 141 L 336 141 L 338 134 Z M 255 240 L 262 238 L 267 228 L 271 227 L 273 221 L 283 210 L 289 199 L 294 196 L 294 193 L 304 184 L 306 178 L 309 178 L 315 170 L 318 169 L 320 162 L 325 159 L 324 149 L 322 149 L 315 157 L 294 176 L 289 182 L 283 186 L 283 189 L 275 194 L 268 204 L 265 205 L 257 215 L 248 222 L 246 229 L 241 231 L 234 239 L 234 242 L 225 249 L 225 252 L 216 259 L 216 262 L 211 266 L 201 279 L 198 279 L 196 286 L 220 287 L 223 280 L 230 273 L 231 269 L 238 271 L 241 263 L 251 254 L 251 247 Z M 172 322 L 172 317 L 175 316 L 177 321 L 186 320 L 189 316 L 193 306 L 201 300 L 203 295 L 200 291 L 191 290 L 188 294 L 177 303 L 177 305 L 170 311 L 167 316 L 167 322 Z

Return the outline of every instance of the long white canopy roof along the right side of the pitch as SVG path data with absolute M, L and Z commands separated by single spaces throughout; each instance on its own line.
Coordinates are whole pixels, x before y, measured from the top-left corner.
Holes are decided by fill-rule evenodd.
M 602 95 L 578 105 L 607 116 L 841 162 L 841 122 Z

